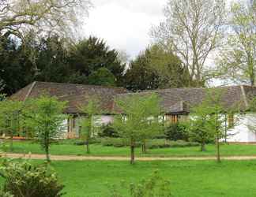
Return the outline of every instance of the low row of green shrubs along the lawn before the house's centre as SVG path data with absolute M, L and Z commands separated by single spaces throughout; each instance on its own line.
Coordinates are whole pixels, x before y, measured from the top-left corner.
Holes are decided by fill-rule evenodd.
M 121 138 L 103 138 L 101 144 L 107 147 L 127 147 L 129 142 Z M 140 147 L 141 143 L 136 143 Z M 186 142 L 183 140 L 170 141 L 167 139 L 149 139 L 146 141 L 146 147 L 149 149 L 168 148 L 168 147 L 197 147 L 199 143 Z

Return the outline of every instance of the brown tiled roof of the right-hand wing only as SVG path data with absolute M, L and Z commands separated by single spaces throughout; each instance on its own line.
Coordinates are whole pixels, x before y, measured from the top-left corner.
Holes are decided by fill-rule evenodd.
M 213 89 L 221 89 L 222 104 L 227 109 L 235 106 L 239 110 L 247 110 L 248 99 L 250 96 L 256 96 L 256 87 L 250 86 L 229 86 L 215 87 Z M 159 95 L 161 106 L 165 113 L 189 113 L 191 106 L 197 106 L 205 98 L 207 88 L 171 88 L 156 91 L 143 91 L 139 93 L 128 93 L 118 95 L 118 97 L 138 94 L 147 95 L 150 92 Z

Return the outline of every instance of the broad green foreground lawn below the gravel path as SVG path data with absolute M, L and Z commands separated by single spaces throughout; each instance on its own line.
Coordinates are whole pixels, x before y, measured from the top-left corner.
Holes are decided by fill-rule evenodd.
M 109 197 L 107 182 L 137 182 L 156 169 L 171 181 L 173 196 L 256 196 L 256 161 L 52 162 L 66 197 Z

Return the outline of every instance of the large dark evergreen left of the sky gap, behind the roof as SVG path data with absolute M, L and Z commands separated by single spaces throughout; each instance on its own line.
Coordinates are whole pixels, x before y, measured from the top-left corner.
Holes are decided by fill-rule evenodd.
M 122 73 L 125 69 L 125 64 L 119 60 L 119 52 L 110 50 L 104 40 L 92 36 L 72 47 L 70 66 L 76 75 L 86 78 L 98 69 L 108 69 L 115 76 L 117 85 L 121 84 Z M 79 83 L 84 84 L 85 81 Z

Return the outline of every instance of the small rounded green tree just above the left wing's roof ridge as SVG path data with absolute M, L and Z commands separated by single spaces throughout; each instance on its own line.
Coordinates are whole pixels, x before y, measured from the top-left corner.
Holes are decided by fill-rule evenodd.
M 115 86 L 115 76 L 106 68 L 100 68 L 88 76 L 88 84 Z

